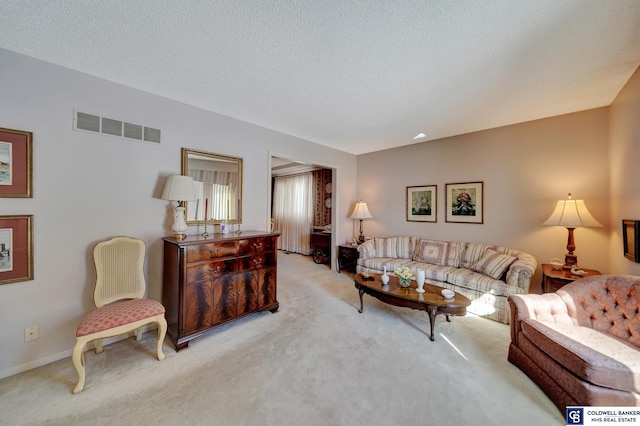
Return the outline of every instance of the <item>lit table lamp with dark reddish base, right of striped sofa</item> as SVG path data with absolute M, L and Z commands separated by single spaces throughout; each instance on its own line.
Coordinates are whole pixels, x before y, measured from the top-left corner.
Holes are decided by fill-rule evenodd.
M 566 200 L 558 201 L 555 210 L 543 225 L 564 226 L 569 231 L 569 237 L 567 239 L 568 253 L 564 257 L 564 268 L 571 268 L 573 265 L 578 264 L 578 256 L 573 254 L 573 251 L 576 249 L 573 230 L 580 226 L 602 226 L 602 224 L 589 213 L 584 200 L 574 200 L 571 197 L 571 193 L 569 193 Z

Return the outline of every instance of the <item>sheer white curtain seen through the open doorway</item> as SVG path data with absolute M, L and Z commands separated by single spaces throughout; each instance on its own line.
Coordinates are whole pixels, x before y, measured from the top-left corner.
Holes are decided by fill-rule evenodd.
M 313 220 L 313 176 L 304 173 L 279 176 L 273 186 L 273 218 L 280 232 L 278 248 L 311 254 Z

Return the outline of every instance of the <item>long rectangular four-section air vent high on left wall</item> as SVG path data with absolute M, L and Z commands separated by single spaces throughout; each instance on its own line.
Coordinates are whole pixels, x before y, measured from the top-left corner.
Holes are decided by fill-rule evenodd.
M 75 110 L 73 112 L 73 130 L 153 143 L 161 143 L 162 141 L 159 129 Z

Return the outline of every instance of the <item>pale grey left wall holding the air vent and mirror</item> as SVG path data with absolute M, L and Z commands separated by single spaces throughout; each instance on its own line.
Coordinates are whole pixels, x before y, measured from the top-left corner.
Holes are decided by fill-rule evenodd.
M 69 356 L 77 323 L 93 308 L 97 241 L 143 238 L 148 293 L 161 299 L 160 238 L 173 216 L 159 196 L 166 177 L 180 173 L 181 147 L 244 158 L 244 230 L 268 229 L 271 152 L 335 168 L 336 240 L 351 236 L 351 154 L 3 49 L 0 93 L 0 127 L 33 132 L 34 154 L 33 198 L 0 199 L 0 214 L 33 214 L 35 228 L 35 279 L 0 286 L 0 377 Z M 161 129 L 162 144 L 73 131 L 74 108 Z M 34 324 L 40 338 L 25 343 Z

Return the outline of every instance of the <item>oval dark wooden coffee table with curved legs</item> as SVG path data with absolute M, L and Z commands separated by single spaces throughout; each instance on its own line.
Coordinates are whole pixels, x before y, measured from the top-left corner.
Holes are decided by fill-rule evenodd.
M 403 288 L 400 287 L 400 282 L 396 276 L 389 276 L 388 285 L 382 285 L 381 275 L 372 274 L 372 277 L 372 280 L 366 280 L 362 274 L 353 276 L 356 288 L 360 293 L 360 309 L 358 312 L 362 313 L 364 308 L 362 296 L 365 293 L 389 305 L 426 311 L 429 314 L 429 325 L 431 327 L 429 339 L 431 341 L 434 340 L 436 316 L 445 315 L 447 322 L 450 322 L 449 317 L 451 315 L 466 315 L 467 306 L 471 304 L 471 301 L 460 293 L 455 293 L 453 299 L 445 299 L 440 294 L 442 287 L 435 285 L 425 283 L 425 292 L 418 293 L 415 281 L 411 282 L 411 287 Z

